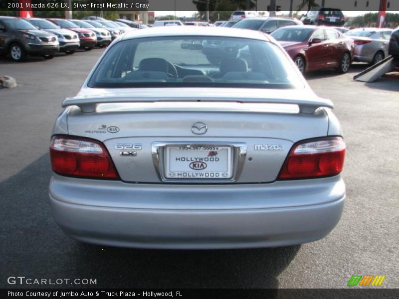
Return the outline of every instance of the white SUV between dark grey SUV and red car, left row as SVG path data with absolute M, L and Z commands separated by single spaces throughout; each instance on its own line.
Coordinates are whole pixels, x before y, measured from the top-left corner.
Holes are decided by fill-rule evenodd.
M 55 34 L 58 38 L 59 50 L 61 52 L 65 52 L 66 54 L 73 54 L 80 46 L 79 37 L 77 33 L 72 30 L 62 29 L 53 22 L 50 22 L 43 18 L 31 17 L 25 20 L 36 26 L 40 30 Z

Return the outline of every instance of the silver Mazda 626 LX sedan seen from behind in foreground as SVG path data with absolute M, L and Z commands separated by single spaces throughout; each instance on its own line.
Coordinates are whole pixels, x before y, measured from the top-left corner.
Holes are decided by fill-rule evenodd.
M 345 143 L 333 105 L 261 32 L 128 33 L 62 105 L 49 195 L 74 239 L 285 246 L 323 238 L 341 217 Z

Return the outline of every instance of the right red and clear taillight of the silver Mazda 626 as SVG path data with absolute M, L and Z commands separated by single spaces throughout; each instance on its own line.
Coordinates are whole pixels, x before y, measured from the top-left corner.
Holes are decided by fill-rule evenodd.
M 299 143 L 291 149 L 278 179 L 336 175 L 344 166 L 345 149 L 345 142 L 341 137 Z

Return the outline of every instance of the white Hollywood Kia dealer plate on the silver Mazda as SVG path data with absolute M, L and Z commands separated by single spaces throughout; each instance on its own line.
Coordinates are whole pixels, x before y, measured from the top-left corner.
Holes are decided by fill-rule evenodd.
M 167 146 L 165 177 L 170 179 L 228 179 L 232 177 L 231 147 Z

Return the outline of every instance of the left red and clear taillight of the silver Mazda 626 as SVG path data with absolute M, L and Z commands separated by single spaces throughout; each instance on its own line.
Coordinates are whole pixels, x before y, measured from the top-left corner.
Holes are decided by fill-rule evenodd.
M 52 169 L 58 174 L 119 178 L 107 149 L 96 140 L 54 136 L 50 144 L 50 158 Z

